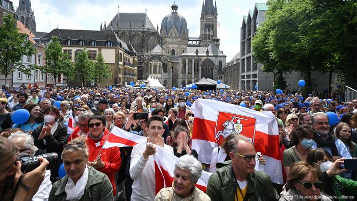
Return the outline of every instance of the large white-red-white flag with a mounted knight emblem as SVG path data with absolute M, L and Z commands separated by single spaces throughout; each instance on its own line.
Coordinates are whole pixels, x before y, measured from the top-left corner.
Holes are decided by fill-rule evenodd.
M 266 160 L 264 171 L 273 183 L 283 184 L 279 133 L 271 112 L 258 112 L 241 106 L 198 98 L 192 105 L 194 125 L 192 148 L 199 161 L 210 164 L 212 150 L 231 133 L 250 138 L 256 152 Z

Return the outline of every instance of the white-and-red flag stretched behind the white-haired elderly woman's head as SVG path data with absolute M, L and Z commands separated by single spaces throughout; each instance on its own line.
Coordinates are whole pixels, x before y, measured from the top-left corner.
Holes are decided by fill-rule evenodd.
M 173 154 L 167 152 L 163 147 L 156 146 L 156 153 L 154 155 L 155 159 L 155 194 L 162 188 L 167 188 L 172 186 L 175 164 L 179 158 Z M 203 171 L 201 178 L 199 178 L 196 187 L 206 192 L 208 179 L 212 173 Z

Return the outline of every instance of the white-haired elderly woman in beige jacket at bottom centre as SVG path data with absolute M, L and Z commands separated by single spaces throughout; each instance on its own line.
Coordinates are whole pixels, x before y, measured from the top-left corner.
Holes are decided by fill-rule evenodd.
M 163 200 L 211 200 L 195 185 L 202 174 L 201 163 L 193 156 L 182 156 L 175 164 L 172 187 L 161 189 L 155 197 Z

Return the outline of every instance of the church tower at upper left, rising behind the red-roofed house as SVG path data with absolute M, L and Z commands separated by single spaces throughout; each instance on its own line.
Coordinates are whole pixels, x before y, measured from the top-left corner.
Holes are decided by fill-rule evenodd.
M 19 0 L 16 13 L 17 20 L 21 21 L 31 32 L 36 32 L 36 21 L 30 0 Z

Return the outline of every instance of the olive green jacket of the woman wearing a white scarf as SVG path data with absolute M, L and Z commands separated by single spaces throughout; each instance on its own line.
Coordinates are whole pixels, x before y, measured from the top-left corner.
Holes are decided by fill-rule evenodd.
M 57 181 L 49 193 L 48 201 L 65 201 L 66 192 L 64 188 L 67 185 L 68 175 Z M 84 195 L 80 200 L 113 200 L 113 186 L 106 174 L 88 166 L 88 182 L 84 189 Z

